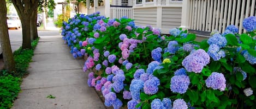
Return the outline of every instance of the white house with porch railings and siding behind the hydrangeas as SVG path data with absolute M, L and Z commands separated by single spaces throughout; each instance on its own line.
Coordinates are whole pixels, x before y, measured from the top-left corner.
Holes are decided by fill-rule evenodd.
M 245 33 L 242 21 L 256 16 L 255 0 L 87 0 L 89 7 L 81 13 L 100 14 L 110 18 L 127 16 L 136 25 L 152 25 L 169 34 L 171 28 L 181 27 L 191 32 L 210 35 L 210 31 L 223 33 L 228 25 L 236 25 Z

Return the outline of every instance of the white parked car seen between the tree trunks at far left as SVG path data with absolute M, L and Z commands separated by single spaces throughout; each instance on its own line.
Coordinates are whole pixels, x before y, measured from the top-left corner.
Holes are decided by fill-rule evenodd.
M 7 16 L 7 26 L 8 28 L 20 28 L 21 22 L 19 16 Z

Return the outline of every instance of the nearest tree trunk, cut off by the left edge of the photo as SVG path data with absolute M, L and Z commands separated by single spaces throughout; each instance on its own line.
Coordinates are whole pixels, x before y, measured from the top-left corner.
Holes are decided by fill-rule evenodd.
M 15 62 L 13 58 L 13 52 L 10 46 L 10 39 L 7 28 L 7 8 L 5 4 L 5 1 L 0 1 L 0 7 L 2 7 L 0 9 L 0 18 L 3 18 L 2 20 L 0 20 L 0 40 L 3 53 L 4 68 L 7 69 L 9 72 L 14 72 L 14 75 L 16 75 Z

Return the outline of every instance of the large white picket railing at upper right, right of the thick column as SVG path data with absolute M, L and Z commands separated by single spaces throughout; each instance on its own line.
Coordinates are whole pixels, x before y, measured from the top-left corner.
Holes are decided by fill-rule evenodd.
M 188 5 L 189 29 L 193 30 L 223 33 L 233 24 L 241 34 L 246 32 L 242 27 L 243 20 L 256 15 L 255 0 L 188 0 Z

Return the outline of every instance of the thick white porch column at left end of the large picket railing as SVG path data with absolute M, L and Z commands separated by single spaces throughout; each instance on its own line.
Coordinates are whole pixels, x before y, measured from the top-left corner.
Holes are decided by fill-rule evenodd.
M 182 1 L 181 27 L 182 29 L 189 29 L 189 10 L 190 0 Z

